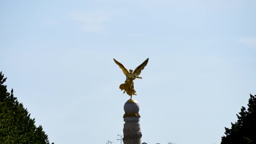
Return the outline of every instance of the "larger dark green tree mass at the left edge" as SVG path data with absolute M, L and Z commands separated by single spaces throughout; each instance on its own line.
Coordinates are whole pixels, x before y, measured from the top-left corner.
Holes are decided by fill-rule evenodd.
M 49 144 L 41 125 L 35 126 L 27 109 L 7 91 L 6 81 L 0 72 L 0 144 Z

